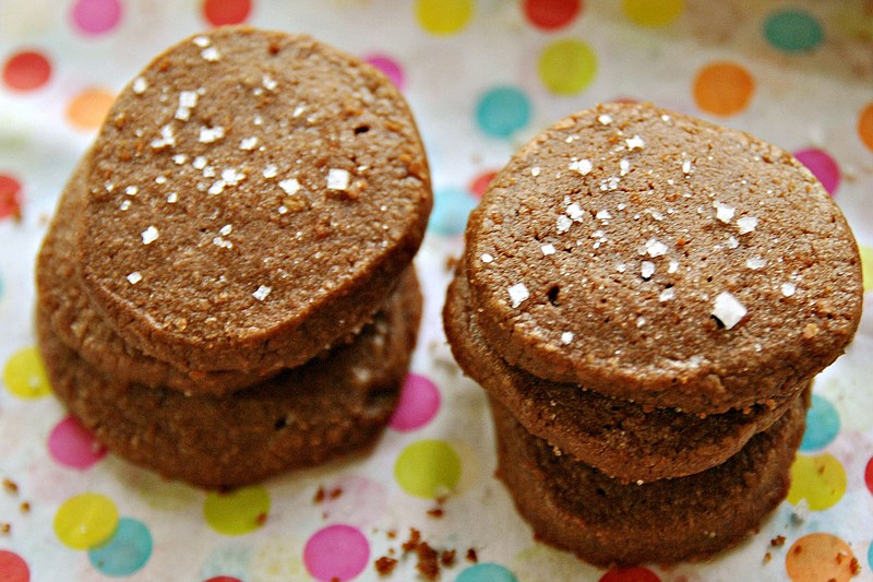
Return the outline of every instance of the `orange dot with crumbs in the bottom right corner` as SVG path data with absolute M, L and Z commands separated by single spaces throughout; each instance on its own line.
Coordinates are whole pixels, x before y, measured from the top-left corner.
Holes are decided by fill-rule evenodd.
M 848 582 L 857 568 L 849 545 L 830 534 L 805 535 L 785 556 L 785 569 L 792 582 Z

